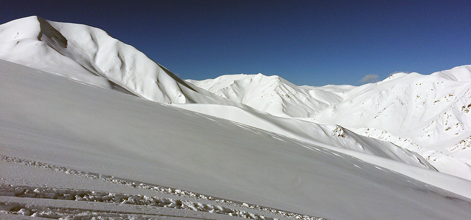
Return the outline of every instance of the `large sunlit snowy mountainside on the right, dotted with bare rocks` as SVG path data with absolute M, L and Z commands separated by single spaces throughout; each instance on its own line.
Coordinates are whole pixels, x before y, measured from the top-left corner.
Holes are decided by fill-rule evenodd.
M 312 121 L 356 128 L 419 152 L 439 171 L 471 179 L 471 66 L 396 73 L 351 90 Z

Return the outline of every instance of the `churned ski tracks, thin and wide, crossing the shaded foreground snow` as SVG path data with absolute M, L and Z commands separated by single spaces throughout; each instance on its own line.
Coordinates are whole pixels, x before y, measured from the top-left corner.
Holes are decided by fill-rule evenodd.
M 272 213 L 278 216 L 283 216 L 297 220 L 326 220 L 323 218 L 316 218 L 312 216 L 300 215 L 290 213 L 282 210 L 276 210 L 259 205 L 249 205 L 245 202 L 236 202 L 221 198 L 214 198 L 212 196 L 197 194 L 193 192 L 183 191 L 180 189 L 172 189 L 163 186 L 154 186 L 141 182 L 133 182 L 131 180 L 120 179 L 114 176 L 108 176 L 98 173 L 91 173 L 86 171 L 78 171 L 70 168 L 55 166 L 37 161 L 30 161 L 16 157 L 9 157 L 0 155 L 0 160 L 10 163 L 18 163 L 26 166 L 32 166 L 44 170 L 56 171 L 87 177 L 95 180 L 101 180 L 113 184 L 125 185 L 133 188 L 141 188 L 146 190 L 153 190 L 167 195 L 181 196 L 188 199 L 201 199 L 213 201 L 220 204 L 231 205 L 236 207 L 243 207 L 246 209 L 259 210 L 263 212 Z M 266 217 L 256 213 L 250 213 L 242 210 L 224 207 L 221 205 L 205 204 L 202 202 L 194 202 L 183 199 L 162 198 L 157 196 L 142 196 L 120 194 L 112 192 L 101 192 L 92 190 L 77 190 L 77 189 L 59 189 L 51 187 L 33 187 L 33 186 L 16 186 L 0 184 L 0 196 L 15 196 L 27 198 L 46 198 L 46 199 L 59 199 L 59 200 L 75 200 L 75 201 L 92 201 L 92 202 L 107 202 L 115 204 L 131 204 L 131 205 L 145 205 L 156 206 L 165 208 L 185 209 L 199 212 L 217 213 L 229 215 L 234 217 L 242 217 L 254 220 L 278 220 L 276 218 Z M 136 213 L 109 213 L 97 212 L 95 210 L 86 209 L 64 209 L 58 207 L 44 207 L 37 205 L 28 205 L 21 202 L 3 201 L 0 198 L 0 214 L 13 214 L 24 215 L 31 217 L 42 217 L 52 219 L 74 219 L 74 220 L 88 220 L 92 218 L 99 219 L 131 219 L 131 220 L 152 220 L 156 219 L 152 216 L 145 216 L 146 214 Z

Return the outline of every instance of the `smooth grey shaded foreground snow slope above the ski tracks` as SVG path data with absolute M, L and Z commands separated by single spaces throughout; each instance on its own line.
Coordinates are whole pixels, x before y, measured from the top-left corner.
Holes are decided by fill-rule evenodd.
M 54 166 L 65 167 L 57 169 L 64 174 L 75 169 L 334 220 L 471 218 L 471 200 L 450 193 L 471 197 L 468 180 L 371 156 L 381 164 L 373 165 L 325 147 L 18 64 L 0 61 L 0 67 L 2 158 L 20 158 L 52 171 Z M 2 181 L 21 172 L 7 173 L 1 174 L 6 175 Z M 37 187 L 41 196 L 58 180 L 32 182 L 38 181 L 44 181 Z M 75 193 L 73 181 L 63 184 Z M 94 187 L 99 185 L 87 185 L 84 195 L 97 190 Z M 1 201 L 23 207 L 27 200 L 16 199 L 9 189 L 3 189 L 7 196 Z M 132 198 L 139 202 L 141 197 Z

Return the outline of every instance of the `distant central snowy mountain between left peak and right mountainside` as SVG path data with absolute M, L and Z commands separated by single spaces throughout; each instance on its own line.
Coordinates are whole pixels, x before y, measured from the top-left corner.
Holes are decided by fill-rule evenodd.
M 321 87 L 299 87 L 277 75 L 265 76 L 261 73 L 187 81 L 215 95 L 279 117 L 310 118 L 342 100 L 340 89 L 326 91 Z M 344 89 L 351 88 L 344 86 Z

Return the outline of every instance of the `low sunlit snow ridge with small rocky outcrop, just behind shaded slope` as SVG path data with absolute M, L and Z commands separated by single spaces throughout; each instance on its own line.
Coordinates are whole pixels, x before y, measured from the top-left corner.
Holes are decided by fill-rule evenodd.
M 175 104 L 175 106 L 239 122 L 334 150 L 347 149 L 435 170 L 418 153 L 351 132 L 339 125 L 323 125 L 298 119 L 273 117 L 224 105 Z M 346 151 L 348 154 L 349 152 Z M 358 155 L 356 155 L 358 157 Z M 361 158 L 361 157 L 360 157 Z M 365 158 L 361 158 L 365 159 Z M 365 159 L 367 160 L 367 159 Z

